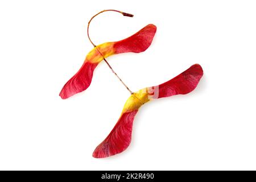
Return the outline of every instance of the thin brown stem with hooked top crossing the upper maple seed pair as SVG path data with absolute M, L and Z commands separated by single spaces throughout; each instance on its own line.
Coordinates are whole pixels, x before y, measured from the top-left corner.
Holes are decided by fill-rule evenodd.
M 128 16 L 128 17 L 133 17 L 132 14 L 129 14 L 129 13 L 123 13 L 122 11 L 117 11 L 117 10 L 103 10 L 103 11 L 100 11 L 99 13 L 97 13 L 96 15 L 92 16 L 92 18 L 89 20 L 88 22 L 88 27 L 87 27 L 87 36 L 90 40 L 90 36 L 89 36 L 89 26 L 90 26 L 90 22 L 92 21 L 92 19 L 97 16 L 98 14 L 101 14 L 105 11 L 115 11 L 115 12 L 118 12 L 118 13 L 121 13 L 123 16 Z M 131 92 L 131 90 L 128 88 L 128 86 L 121 80 L 121 78 L 117 75 L 117 73 L 115 73 L 115 71 L 113 70 L 113 68 L 110 66 L 110 64 L 108 63 L 108 61 L 105 59 L 105 57 L 102 55 L 102 53 L 100 52 L 100 50 L 97 48 L 97 46 L 92 42 L 92 40 L 90 40 L 90 43 L 93 44 L 93 46 L 97 49 L 97 51 L 101 54 L 101 56 L 103 57 L 105 63 L 109 66 L 109 68 L 112 70 L 112 72 L 114 73 L 115 76 L 117 76 L 117 78 L 122 82 L 122 84 L 126 87 L 126 89 L 131 93 L 133 94 L 133 92 Z

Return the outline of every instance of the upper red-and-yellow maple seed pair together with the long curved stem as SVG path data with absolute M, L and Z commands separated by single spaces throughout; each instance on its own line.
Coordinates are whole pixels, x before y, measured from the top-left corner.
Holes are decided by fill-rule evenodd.
M 132 14 L 122 13 L 121 11 L 117 10 L 104 10 L 98 14 L 101 14 L 105 11 L 115 11 L 123 14 L 124 16 L 133 17 Z M 79 71 L 63 86 L 63 89 L 61 89 L 59 95 L 63 99 L 66 99 L 68 97 L 73 96 L 74 94 L 86 90 L 90 86 L 90 83 L 92 81 L 94 69 L 97 67 L 99 63 L 101 63 L 102 60 L 105 61 L 105 63 L 112 70 L 114 75 L 118 77 L 122 84 L 125 85 L 121 78 L 119 78 L 117 73 L 114 72 L 114 70 L 105 58 L 119 53 L 139 53 L 146 51 L 146 49 L 151 45 L 151 42 L 155 36 L 156 26 L 154 26 L 154 24 L 148 24 L 147 26 L 145 26 L 129 38 L 119 40 L 117 42 L 106 42 L 96 46 L 89 37 L 89 24 L 96 15 L 94 15 L 90 19 L 87 28 L 88 38 L 90 42 L 93 44 L 94 48 L 86 56 L 85 61 L 82 64 L 82 67 L 79 69 Z M 129 90 L 131 94 L 133 93 L 131 92 L 127 85 L 125 85 L 125 88 Z

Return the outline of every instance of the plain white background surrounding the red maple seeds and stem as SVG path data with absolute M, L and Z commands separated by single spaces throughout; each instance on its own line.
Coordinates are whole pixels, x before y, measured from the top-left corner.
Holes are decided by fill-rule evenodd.
M 105 63 L 90 87 L 59 92 L 96 44 L 158 27 L 147 51 L 109 57 L 131 90 L 199 63 L 185 96 L 139 110 L 125 152 L 94 159 L 129 92 Z M 0 169 L 256 169 L 255 1 L 1 1 Z

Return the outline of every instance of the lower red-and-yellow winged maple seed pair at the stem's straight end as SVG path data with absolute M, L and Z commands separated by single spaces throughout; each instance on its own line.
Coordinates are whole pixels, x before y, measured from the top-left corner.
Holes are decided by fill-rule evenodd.
M 163 84 L 144 88 L 131 94 L 125 106 L 123 106 L 121 116 L 113 130 L 108 137 L 96 147 L 93 152 L 93 157 L 107 158 L 126 150 L 131 143 L 131 133 L 135 115 L 143 104 L 162 97 L 188 94 L 196 88 L 202 76 L 203 69 L 199 64 L 194 64 L 183 73 L 180 73 L 180 75 Z M 154 92 L 151 92 L 152 88 L 157 88 L 154 89 L 154 92 L 158 92 L 155 94 L 155 97 L 150 97 L 154 95 Z

